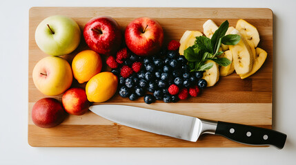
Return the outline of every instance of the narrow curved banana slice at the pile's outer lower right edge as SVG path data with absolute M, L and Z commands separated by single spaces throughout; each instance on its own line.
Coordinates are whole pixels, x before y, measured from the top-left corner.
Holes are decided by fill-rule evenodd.
M 255 74 L 260 67 L 262 67 L 264 61 L 266 60 L 267 53 L 265 50 L 262 50 L 261 48 L 256 48 L 256 54 L 253 60 L 253 68 L 248 74 L 239 74 L 241 79 L 247 78 L 248 76 L 251 76 L 252 74 Z

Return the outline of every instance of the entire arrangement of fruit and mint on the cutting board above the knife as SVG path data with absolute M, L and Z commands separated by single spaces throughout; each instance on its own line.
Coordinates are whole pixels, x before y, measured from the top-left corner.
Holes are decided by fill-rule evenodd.
M 188 30 L 180 41 L 166 46 L 161 25 L 148 17 L 131 21 L 124 34 L 112 17 L 95 17 L 82 32 L 90 50 L 76 54 L 70 65 L 59 56 L 67 56 L 80 43 L 81 30 L 74 20 L 48 17 L 35 31 L 38 47 L 50 56 L 35 65 L 34 85 L 46 96 L 63 94 L 61 102 L 42 98 L 34 104 L 32 120 L 37 126 L 57 126 L 67 113 L 83 115 L 91 102 L 105 102 L 115 94 L 129 100 L 143 97 L 147 104 L 197 97 L 219 76 L 235 71 L 243 79 L 254 74 L 267 55 L 257 47 L 256 28 L 244 20 L 236 28 L 228 28 L 227 21 L 217 27 L 209 20 L 204 23 L 206 36 Z M 102 72 L 105 62 L 110 72 Z M 71 88 L 73 80 L 85 89 Z

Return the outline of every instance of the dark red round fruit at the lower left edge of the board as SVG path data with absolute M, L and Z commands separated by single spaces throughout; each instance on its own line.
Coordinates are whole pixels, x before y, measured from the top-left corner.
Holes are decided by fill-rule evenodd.
M 66 111 L 55 98 L 42 98 L 32 108 L 32 121 L 41 128 L 51 128 L 63 122 Z

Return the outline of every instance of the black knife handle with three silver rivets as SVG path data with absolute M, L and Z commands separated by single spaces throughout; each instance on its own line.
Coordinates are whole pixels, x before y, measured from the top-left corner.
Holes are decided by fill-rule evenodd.
M 284 147 L 287 138 L 286 134 L 271 129 L 230 122 L 217 122 L 215 134 L 243 144 L 272 145 L 279 149 Z

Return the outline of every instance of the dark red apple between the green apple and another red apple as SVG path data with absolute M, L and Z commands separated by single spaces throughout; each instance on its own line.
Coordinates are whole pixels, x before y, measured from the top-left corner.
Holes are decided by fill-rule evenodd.
M 115 54 L 121 45 L 121 30 L 112 17 L 95 17 L 84 26 L 88 47 L 99 54 Z

